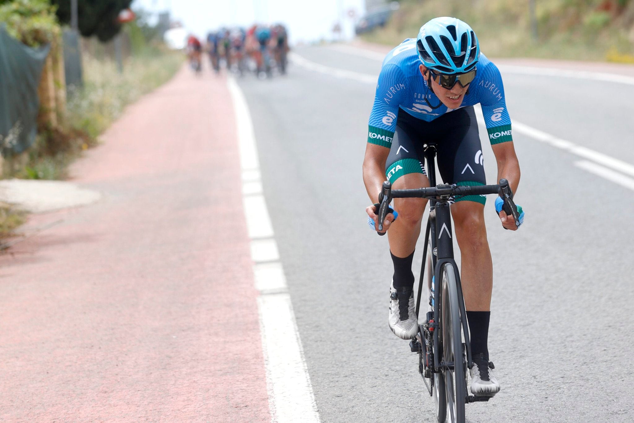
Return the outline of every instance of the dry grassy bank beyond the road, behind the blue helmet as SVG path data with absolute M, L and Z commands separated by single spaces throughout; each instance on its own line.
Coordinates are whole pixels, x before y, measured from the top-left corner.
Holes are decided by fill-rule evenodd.
M 529 1 L 402 0 L 384 28 L 363 39 L 396 45 L 416 37 L 436 16 L 469 23 L 491 57 L 537 57 L 634 63 L 633 0 L 535 0 L 538 39 Z

